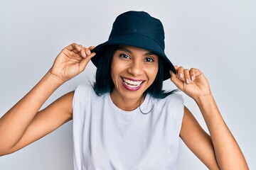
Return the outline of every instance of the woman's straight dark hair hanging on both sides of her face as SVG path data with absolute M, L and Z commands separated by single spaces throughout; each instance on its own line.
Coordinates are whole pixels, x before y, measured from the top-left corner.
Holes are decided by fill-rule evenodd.
M 97 71 L 95 77 L 95 83 L 93 84 L 93 89 L 98 96 L 111 92 L 114 89 L 114 83 L 111 78 L 111 63 L 113 59 L 114 52 L 117 50 L 119 45 L 107 46 L 102 51 L 102 56 L 100 57 L 99 63 L 97 64 Z M 159 57 L 159 71 L 156 74 L 156 78 L 144 92 L 150 94 L 154 98 L 165 98 L 175 91 L 164 91 L 163 88 L 164 81 L 164 60 Z

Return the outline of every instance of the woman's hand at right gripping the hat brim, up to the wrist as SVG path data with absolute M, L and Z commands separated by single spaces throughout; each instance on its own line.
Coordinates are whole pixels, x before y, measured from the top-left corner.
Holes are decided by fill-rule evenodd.
M 175 66 L 177 74 L 171 72 L 171 81 L 195 101 L 211 94 L 208 80 L 199 69 L 184 69 Z

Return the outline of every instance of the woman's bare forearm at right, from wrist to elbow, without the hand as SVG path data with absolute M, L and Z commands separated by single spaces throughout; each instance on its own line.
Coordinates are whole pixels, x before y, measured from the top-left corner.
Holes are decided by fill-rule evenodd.
M 220 169 L 248 169 L 238 143 L 225 124 L 212 95 L 196 100 L 203 114 Z

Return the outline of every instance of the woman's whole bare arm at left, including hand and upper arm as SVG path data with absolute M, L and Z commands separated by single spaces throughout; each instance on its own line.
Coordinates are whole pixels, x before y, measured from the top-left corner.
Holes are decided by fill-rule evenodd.
M 72 118 L 73 92 L 43 111 L 39 109 L 61 84 L 85 69 L 95 55 L 90 52 L 92 48 L 76 44 L 65 47 L 43 79 L 0 118 L 0 155 L 25 147 Z

